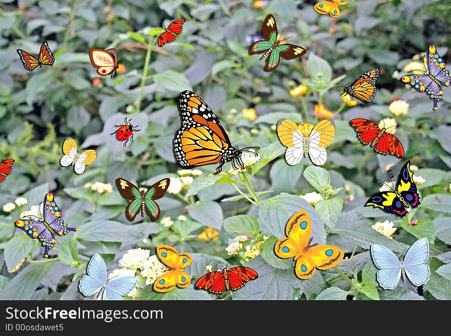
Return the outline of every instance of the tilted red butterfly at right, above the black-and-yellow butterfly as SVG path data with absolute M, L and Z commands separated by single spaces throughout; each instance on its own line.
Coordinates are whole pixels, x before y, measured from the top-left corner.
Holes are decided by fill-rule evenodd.
M 374 150 L 380 154 L 390 154 L 403 158 L 404 147 L 402 147 L 401 141 L 393 134 L 388 133 L 387 128 L 379 128 L 377 124 L 371 120 L 357 118 L 349 122 L 349 124 L 356 130 L 357 137 L 364 144 L 369 143 L 370 147 L 374 147 Z M 393 127 L 393 126 L 392 126 Z

